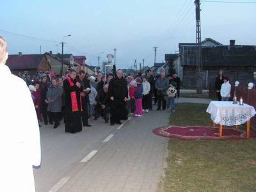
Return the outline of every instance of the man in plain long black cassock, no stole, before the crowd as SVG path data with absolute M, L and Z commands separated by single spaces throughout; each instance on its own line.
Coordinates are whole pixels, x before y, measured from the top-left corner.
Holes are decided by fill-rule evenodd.
M 109 82 L 108 93 L 110 98 L 110 125 L 122 124 L 120 120 L 127 120 L 125 108 L 128 98 L 127 82 L 123 71 L 117 70 L 116 77 Z

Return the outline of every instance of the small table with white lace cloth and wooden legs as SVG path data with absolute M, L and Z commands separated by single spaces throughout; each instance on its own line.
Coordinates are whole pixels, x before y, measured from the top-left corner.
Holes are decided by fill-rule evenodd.
M 232 101 L 211 101 L 207 110 L 211 114 L 213 129 L 220 124 L 220 138 L 222 137 L 223 125 L 233 126 L 246 123 L 246 138 L 250 138 L 250 118 L 256 114 L 255 108 L 248 104 L 233 104 Z

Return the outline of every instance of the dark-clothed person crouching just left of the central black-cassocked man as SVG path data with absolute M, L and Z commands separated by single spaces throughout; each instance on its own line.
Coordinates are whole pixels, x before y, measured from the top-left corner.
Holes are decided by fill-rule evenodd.
M 97 101 L 97 105 L 95 106 L 95 120 L 99 118 L 99 116 L 103 116 L 105 123 L 108 124 L 109 120 L 109 97 L 108 97 L 108 84 L 105 84 L 103 89 L 100 90 L 99 94 L 95 98 Z

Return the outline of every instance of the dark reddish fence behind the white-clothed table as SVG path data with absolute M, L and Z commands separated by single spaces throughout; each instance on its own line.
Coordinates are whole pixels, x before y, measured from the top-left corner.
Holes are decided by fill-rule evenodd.
M 230 100 L 232 100 L 234 97 L 234 90 L 235 90 L 235 86 L 232 85 L 231 93 L 230 93 L 230 95 L 231 95 Z M 209 97 L 211 99 L 217 98 L 216 91 L 214 88 L 214 83 L 209 84 Z M 237 97 L 237 100 L 239 100 L 240 97 L 243 97 L 244 103 L 249 104 L 250 106 L 253 106 L 254 108 L 256 108 L 256 88 L 255 88 L 255 86 L 253 86 L 252 90 L 249 90 L 247 88 L 247 86 L 244 84 L 237 86 L 236 87 L 236 97 Z M 251 118 L 251 127 L 254 130 L 256 130 L 256 115 Z

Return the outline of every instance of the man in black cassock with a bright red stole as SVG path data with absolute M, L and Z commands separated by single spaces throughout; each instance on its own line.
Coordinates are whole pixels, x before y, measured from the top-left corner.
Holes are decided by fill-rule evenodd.
M 81 84 L 76 80 L 76 70 L 69 70 L 68 77 L 63 81 L 66 102 L 65 132 L 76 133 L 82 131 L 81 122 Z

